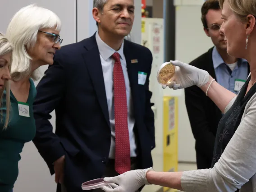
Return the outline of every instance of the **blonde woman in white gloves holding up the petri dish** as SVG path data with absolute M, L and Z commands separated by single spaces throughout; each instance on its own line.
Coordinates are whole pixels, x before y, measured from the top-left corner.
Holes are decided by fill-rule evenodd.
M 129 171 L 105 181 L 105 192 L 134 192 L 155 184 L 185 192 L 256 192 L 256 0 L 219 0 L 229 55 L 244 58 L 251 74 L 238 95 L 220 86 L 209 73 L 173 61 L 177 76 L 170 88 L 197 85 L 224 113 L 219 122 L 211 169 L 185 172 Z M 241 83 L 241 82 L 239 82 Z M 165 88 L 165 87 L 164 87 Z M 118 185 L 114 184 L 117 183 Z

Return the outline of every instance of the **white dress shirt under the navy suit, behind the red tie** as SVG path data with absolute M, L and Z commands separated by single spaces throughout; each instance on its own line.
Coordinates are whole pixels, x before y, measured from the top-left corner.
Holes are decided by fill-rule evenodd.
M 110 145 L 110 154 L 109 158 L 115 158 L 115 126 L 114 126 L 114 87 L 113 87 L 113 69 L 114 69 L 114 59 L 111 57 L 115 52 L 118 52 L 120 55 L 120 61 L 123 69 L 123 76 L 125 81 L 126 88 L 126 97 L 127 97 L 127 107 L 128 107 L 128 130 L 129 130 L 129 139 L 130 139 L 130 151 L 131 157 L 135 157 L 136 154 L 136 143 L 135 135 L 133 132 L 133 127 L 135 123 L 135 118 L 133 114 L 133 101 L 131 95 L 131 87 L 128 78 L 128 72 L 126 67 L 126 60 L 123 54 L 123 43 L 121 48 L 118 51 L 115 51 L 110 46 L 108 46 L 104 41 L 101 40 L 98 32 L 96 32 L 96 42 L 99 48 L 100 57 L 101 57 L 101 66 L 103 71 L 103 78 L 105 83 L 105 91 L 107 96 L 107 104 L 110 117 L 110 128 L 111 128 L 111 145 Z

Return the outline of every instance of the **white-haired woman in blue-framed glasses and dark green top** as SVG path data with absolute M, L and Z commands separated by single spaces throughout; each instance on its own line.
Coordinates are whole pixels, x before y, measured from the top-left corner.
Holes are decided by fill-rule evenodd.
M 11 192 L 18 177 L 18 161 L 24 143 L 36 133 L 32 104 L 36 96 L 33 80 L 37 69 L 53 64 L 60 49 L 61 22 L 52 11 L 28 5 L 20 9 L 7 28 L 6 37 L 13 44 L 8 127 L 0 137 L 0 192 Z

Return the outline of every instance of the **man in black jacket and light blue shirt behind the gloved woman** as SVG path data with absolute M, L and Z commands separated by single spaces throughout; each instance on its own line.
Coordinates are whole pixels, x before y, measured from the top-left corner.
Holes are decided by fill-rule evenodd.
M 201 7 L 201 14 L 204 31 L 215 46 L 190 64 L 208 71 L 220 85 L 238 93 L 247 79 L 249 67 L 245 59 L 234 58 L 227 53 L 224 35 L 219 32 L 223 19 L 218 0 L 206 0 Z M 196 139 L 197 168 L 208 169 L 211 166 L 218 123 L 222 117 L 221 111 L 196 86 L 185 89 L 185 102 Z

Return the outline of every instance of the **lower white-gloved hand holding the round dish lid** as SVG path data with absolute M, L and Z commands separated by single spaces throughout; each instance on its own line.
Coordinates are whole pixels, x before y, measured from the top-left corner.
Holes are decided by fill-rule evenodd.
M 146 179 L 146 173 L 154 171 L 152 168 L 127 171 L 116 177 L 104 178 L 111 187 L 101 187 L 105 192 L 136 192 L 143 185 L 150 185 Z M 116 183 L 116 184 L 114 184 Z

